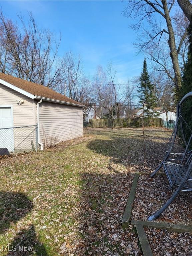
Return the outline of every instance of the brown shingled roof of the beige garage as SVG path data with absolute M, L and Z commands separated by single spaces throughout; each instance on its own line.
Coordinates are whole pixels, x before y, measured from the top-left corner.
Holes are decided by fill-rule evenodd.
M 79 106 L 84 106 L 83 104 L 70 99 L 69 97 L 62 95 L 48 87 L 45 87 L 40 84 L 36 84 L 33 82 L 29 82 L 11 75 L 7 75 L 4 73 L 0 73 L 0 80 L 3 80 L 11 85 L 14 85 L 34 96 L 37 98 L 47 98 L 50 100 L 56 100 L 56 101 L 62 101 L 63 103 L 70 103 L 71 105 L 79 105 Z M 1 83 L 1 81 L 0 81 Z

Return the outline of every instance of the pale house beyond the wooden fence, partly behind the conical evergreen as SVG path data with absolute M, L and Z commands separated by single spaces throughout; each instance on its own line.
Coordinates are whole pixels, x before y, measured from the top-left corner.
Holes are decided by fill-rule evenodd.
M 147 117 L 146 109 L 147 109 L 146 106 L 144 106 L 144 117 Z M 150 108 L 150 109 L 148 109 L 148 112 L 149 112 L 149 116 L 162 118 L 163 121 L 169 121 L 169 120 L 176 121 L 176 113 L 175 112 L 168 111 L 166 114 L 166 111 L 163 111 L 161 107 Z M 139 109 L 134 114 L 133 117 L 137 118 L 137 117 L 141 117 L 141 116 L 143 116 L 143 108 Z

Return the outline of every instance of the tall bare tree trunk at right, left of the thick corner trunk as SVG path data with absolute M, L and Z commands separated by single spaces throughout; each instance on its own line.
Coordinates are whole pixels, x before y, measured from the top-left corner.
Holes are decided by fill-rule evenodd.
M 165 20 L 166 20 L 167 28 L 168 28 L 168 32 L 169 32 L 168 44 L 169 44 L 169 48 L 171 51 L 170 56 L 171 56 L 171 60 L 173 63 L 173 70 L 174 70 L 174 74 L 175 74 L 175 89 L 176 89 L 176 98 L 178 101 L 178 94 L 179 94 L 179 90 L 181 88 L 181 72 L 179 69 L 179 61 L 178 61 L 178 55 L 177 55 L 177 50 L 176 50 L 176 44 L 175 44 L 175 35 L 174 35 L 173 27 L 171 24 L 171 18 L 169 16 L 167 1 L 162 0 L 162 4 L 163 4 Z

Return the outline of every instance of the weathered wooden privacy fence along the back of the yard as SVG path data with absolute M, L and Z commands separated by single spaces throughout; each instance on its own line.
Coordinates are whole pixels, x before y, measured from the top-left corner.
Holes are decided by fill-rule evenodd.
M 89 127 L 92 128 L 112 128 L 112 119 L 89 119 L 88 123 Z M 125 128 L 125 127 L 142 127 L 143 120 L 142 118 L 119 118 L 113 119 L 113 126 L 114 128 Z M 162 118 L 144 118 L 144 127 L 149 126 L 163 126 Z

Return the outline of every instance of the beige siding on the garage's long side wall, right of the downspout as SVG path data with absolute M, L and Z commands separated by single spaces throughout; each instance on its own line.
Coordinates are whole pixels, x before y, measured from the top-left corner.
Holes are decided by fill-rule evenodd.
M 82 107 L 43 101 L 39 104 L 39 119 L 44 147 L 83 136 Z

